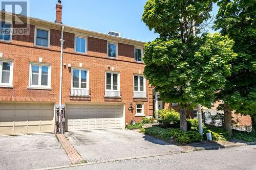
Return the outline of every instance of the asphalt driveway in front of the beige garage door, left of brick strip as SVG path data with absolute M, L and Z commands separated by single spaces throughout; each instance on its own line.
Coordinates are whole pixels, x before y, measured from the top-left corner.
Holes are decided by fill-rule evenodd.
M 36 169 L 69 165 L 54 134 L 0 136 L 0 169 Z

